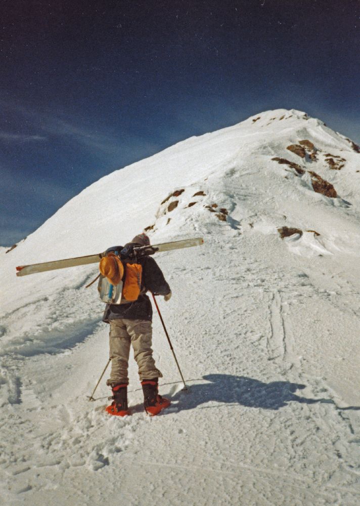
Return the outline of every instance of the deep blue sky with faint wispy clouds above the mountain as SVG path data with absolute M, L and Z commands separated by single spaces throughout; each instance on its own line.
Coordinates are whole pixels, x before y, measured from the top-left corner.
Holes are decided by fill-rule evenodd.
M 358 0 L 3 0 L 0 244 L 192 135 L 295 108 L 360 142 Z

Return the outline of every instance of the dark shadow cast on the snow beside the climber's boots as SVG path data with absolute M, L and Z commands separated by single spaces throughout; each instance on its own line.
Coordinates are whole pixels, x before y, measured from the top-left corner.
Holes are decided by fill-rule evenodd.
M 192 385 L 188 395 L 184 395 L 182 391 L 177 392 L 171 398 L 172 405 L 178 407 L 179 410 L 186 410 L 209 401 L 262 409 L 280 409 L 291 401 L 305 404 L 318 402 L 334 404 L 332 399 L 300 397 L 295 392 L 303 390 L 305 385 L 288 381 L 262 383 L 258 379 L 231 374 L 207 374 L 203 376 L 203 379 L 207 383 Z

